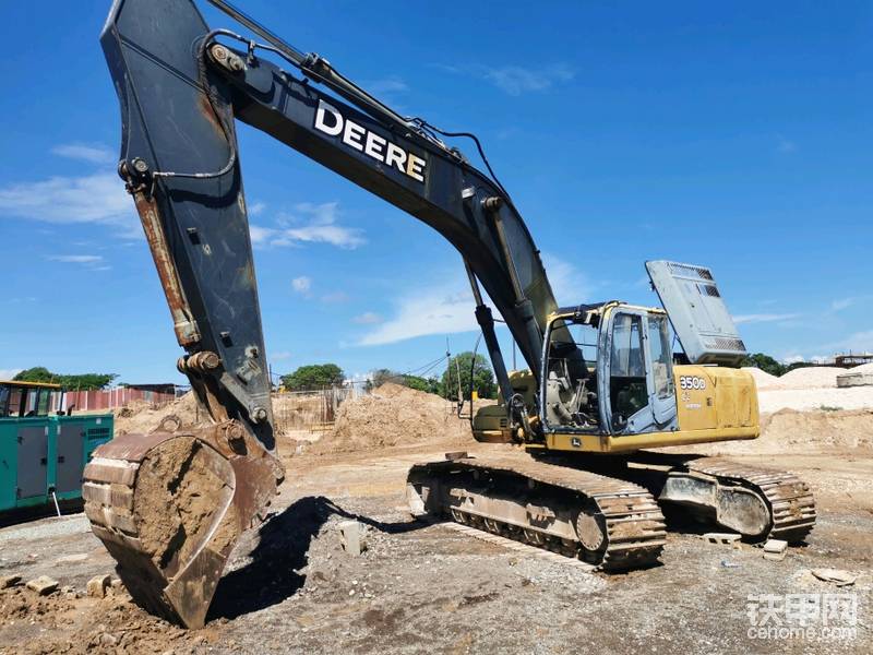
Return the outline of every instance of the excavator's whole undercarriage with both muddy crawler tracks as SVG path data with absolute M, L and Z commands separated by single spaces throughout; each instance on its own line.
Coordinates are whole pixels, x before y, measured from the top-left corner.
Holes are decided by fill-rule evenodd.
M 418 464 L 407 497 L 414 514 L 449 517 L 607 571 L 656 563 L 665 513 L 752 544 L 801 543 L 815 523 L 812 492 L 790 473 L 649 452 L 585 462 L 549 454 Z

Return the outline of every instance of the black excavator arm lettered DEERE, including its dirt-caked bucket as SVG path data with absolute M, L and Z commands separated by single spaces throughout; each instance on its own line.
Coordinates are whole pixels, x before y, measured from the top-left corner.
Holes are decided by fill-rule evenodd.
M 461 252 L 503 400 L 519 421 L 479 285 L 535 376 L 558 307 L 493 176 L 323 58 L 211 1 L 264 41 L 210 29 L 190 0 L 116 0 L 100 41 L 122 114 L 119 174 L 186 352 L 178 368 L 213 425 L 119 437 L 97 451 L 84 486 L 94 531 L 134 598 L 191 627 L 203 624 L 234 543 L 263 519 L 284 475 L 235 120 L 404 210 Z

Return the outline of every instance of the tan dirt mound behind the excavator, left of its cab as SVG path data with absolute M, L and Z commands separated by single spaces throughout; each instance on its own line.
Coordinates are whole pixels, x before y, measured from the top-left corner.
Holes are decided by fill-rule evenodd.
M 469 420 L 454 404 L 432 393 L 387 382 L 372 394 L 339 405 L 333 432 L 311 452 L 336 453 L 386 445 L 473 441 Z

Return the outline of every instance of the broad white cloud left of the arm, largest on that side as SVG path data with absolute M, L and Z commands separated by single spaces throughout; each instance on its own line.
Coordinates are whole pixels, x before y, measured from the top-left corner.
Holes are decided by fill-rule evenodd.
M 133 201 L 115 172 L 51 177 L 0 188 L 0 214 L 57 224 L 95 223 L 141 235 Z

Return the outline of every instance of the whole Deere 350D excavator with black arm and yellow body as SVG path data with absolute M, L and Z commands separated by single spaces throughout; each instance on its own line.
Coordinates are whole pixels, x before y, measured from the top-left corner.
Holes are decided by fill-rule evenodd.
M 745 346 L 711 271 L 648 262 L 663 309 L 559 306 L 475 135 L 396 114 L 323 57 L 210 1 L 254 37 L 210 28 L 191 0 L 116 0 L 100 37 L 121 107 L 118 171 L 184 349 L 177 366 L 212 419 L 118 437 L 86 467 L 86 514 L 137 603 L 202 626 L 234 544 L 265 519 L 285 474 L 235 120 L 404 210 L 462 255 L 500 388 L 474 436 L 531 456 L 416 465 L 414 513 L 609 571 L 657 561 L 667 507 L 750 541 L 804 538 L 815 507 L 791 474 L 650 451 L 758 436 L 754 382 L 731 368 Z M 487 172 L 446 143 L 458 138 Z M 527 370 L 507 371 L 487 299 Z

